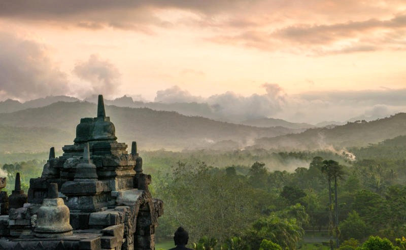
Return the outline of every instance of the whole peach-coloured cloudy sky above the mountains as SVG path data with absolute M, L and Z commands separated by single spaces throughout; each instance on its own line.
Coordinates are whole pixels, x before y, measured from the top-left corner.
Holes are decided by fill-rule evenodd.
M 405 49 L 404 0 L 0 0 L 0 100 L 127 95 L 345 120 L 406 110 Z

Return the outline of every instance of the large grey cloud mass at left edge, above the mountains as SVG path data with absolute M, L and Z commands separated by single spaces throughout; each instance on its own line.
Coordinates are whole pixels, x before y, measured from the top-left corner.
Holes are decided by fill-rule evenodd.
M 46 45 L 0 33 L 0 94 L 20 100 L 68 93 L 67 75 L 49 57 Z

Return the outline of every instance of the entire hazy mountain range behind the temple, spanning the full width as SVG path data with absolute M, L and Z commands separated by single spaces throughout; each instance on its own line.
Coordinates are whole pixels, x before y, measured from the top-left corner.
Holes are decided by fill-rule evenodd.
M 64 102 L 55 100 L 63 99 Z M 95 101 L 95 100 L 89 100 Z M 51 104 L 49 104 L 51 103 Z M 106 100 L 106 104 L 141 105 L 132 98 Z M 145 103 L 143 103 L 145 104 Z M 176 104 L 149 103 L 155 108 Z M 39 106 L 36 108 L 25 108 Z M 170 106 L 172 105 L 172 106 Z M 182 106 L 181 107 L 192 107 Z M 188 104 L 204 107 L 204 104 Z M 206 106 L 208 107 L 208 106 Z M 13 110 L 18 111 L 13 111 Z M 96 105 L 71 97 L 49 97 L 26 103 L 0 102 L 0 153 L 43 152 L 54 146 L 72 144 L 80 118 L 96 116 Z M 190 108 L 190 111 L 194 110 Z M 209 112 L 209 108 L 202 112 Z M 206 110 L 206 111 L 205 111 Z M 357 120 L 343 125 L 317 128 L 308 123 L 256 118 L 243 124 L 188 116 L 175 111 L 147 107 L 106 106 L 116 126 L 118 141 L 138 141 L 143 149 L 241 149 L 340 150 L 406 135 L 406 114 L 398 113 L 374 121 Z M 192 112 L 191 112 L 192 113 Z

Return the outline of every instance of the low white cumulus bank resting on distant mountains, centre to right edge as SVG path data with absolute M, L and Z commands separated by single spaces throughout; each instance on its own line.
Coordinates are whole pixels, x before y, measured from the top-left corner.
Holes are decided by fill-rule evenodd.
M 372 120 L 406 111 L 406 89 L 323 91 L 287 95 L 278 84 L 264 84 L 262 87 L 266 94 L 245 97 L 226 92 L 202 98 L 174 86 L 158 91 L 155 101 L 207 103 L 214 117 L 235 122 L 272 117 L 316 124 L 331 120 Z

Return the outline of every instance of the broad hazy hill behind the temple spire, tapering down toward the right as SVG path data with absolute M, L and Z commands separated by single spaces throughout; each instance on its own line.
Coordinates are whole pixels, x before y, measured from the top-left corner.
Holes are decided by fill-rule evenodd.
M 82 117 L 96 116 L 88 102 L 57 102 L 41 108 L 0 114 L 0 152 L 39 152 L 72 144 Z M 149 108 L 106 106 L 119 142 L 138 141 L 143 149 L 211 147 L 231 140 L 244 147 L 260 137 L 300 132 L 282 127 L 256 128 Z M 52 145 L 51 145 L 52 144 Z

